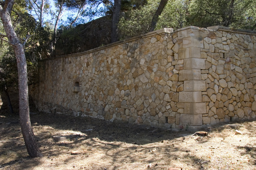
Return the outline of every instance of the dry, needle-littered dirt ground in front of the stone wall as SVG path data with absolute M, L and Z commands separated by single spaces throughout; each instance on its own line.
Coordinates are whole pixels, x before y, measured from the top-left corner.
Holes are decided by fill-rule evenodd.
M 2 103 L 0 103 L 2 104 Z M 1 170 L 255 170 L 256 122 L 212 126 L 205 137 L 192 132 L 116 125 L 103 120 L 58 114 L 31 114 L 43 157 L 29 158 L 18 115 L 0 109 Z M 16 110 L 17 112 L 17 110 Z M 203 129 L 206 130 L 206 129 Z M 69 135 L 55 142 L 54 135 Z M 80 151 L 77 155 L 72 151 Z

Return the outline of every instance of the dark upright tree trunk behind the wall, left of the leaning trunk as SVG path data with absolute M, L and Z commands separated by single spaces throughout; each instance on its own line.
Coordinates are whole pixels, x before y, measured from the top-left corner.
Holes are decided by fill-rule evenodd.
M 114 0 L 114 9 L 112 15 L 112 24 L 111 24 L 111 43 L 118 41 L 118 27 L 119 16 L 121 11 L 121 0 Z

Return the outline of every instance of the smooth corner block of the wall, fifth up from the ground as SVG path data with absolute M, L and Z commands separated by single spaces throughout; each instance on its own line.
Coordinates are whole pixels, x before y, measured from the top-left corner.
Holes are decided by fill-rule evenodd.
M 201 78 L 201 70 L 199 69 L 188 69 L 179 71 L 179 81 L 201 80 Z

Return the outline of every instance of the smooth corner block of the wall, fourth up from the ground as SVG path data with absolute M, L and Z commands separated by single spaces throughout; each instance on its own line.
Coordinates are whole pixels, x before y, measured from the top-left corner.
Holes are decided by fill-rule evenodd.
M 205 80 L 184 81 L 184 91 L 206 91 Z

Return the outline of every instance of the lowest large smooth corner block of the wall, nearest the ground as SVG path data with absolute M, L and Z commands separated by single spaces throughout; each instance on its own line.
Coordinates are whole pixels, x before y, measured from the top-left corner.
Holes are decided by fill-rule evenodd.
M 203 124 L 202 115 L 190 115 L 190 114 L 180 114 L 180 123 L 182 125 L 199 126 Z

